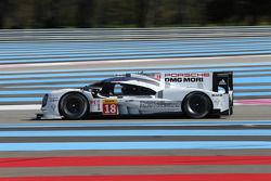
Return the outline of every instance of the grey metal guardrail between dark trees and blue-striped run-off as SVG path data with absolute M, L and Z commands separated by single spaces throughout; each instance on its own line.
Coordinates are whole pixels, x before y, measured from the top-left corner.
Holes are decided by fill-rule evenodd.
M 5 29 L 0 41 L 111 41 L 271 36 L 271 26 Z

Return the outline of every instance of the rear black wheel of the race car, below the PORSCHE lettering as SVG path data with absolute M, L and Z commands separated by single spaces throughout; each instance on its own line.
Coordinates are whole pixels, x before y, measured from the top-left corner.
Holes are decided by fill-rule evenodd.
M 204 118 L 212 109 L 212 103 L 208 95 L 196 91 L 188 94 L 182 102 L 183 113 L 190 118 Z

